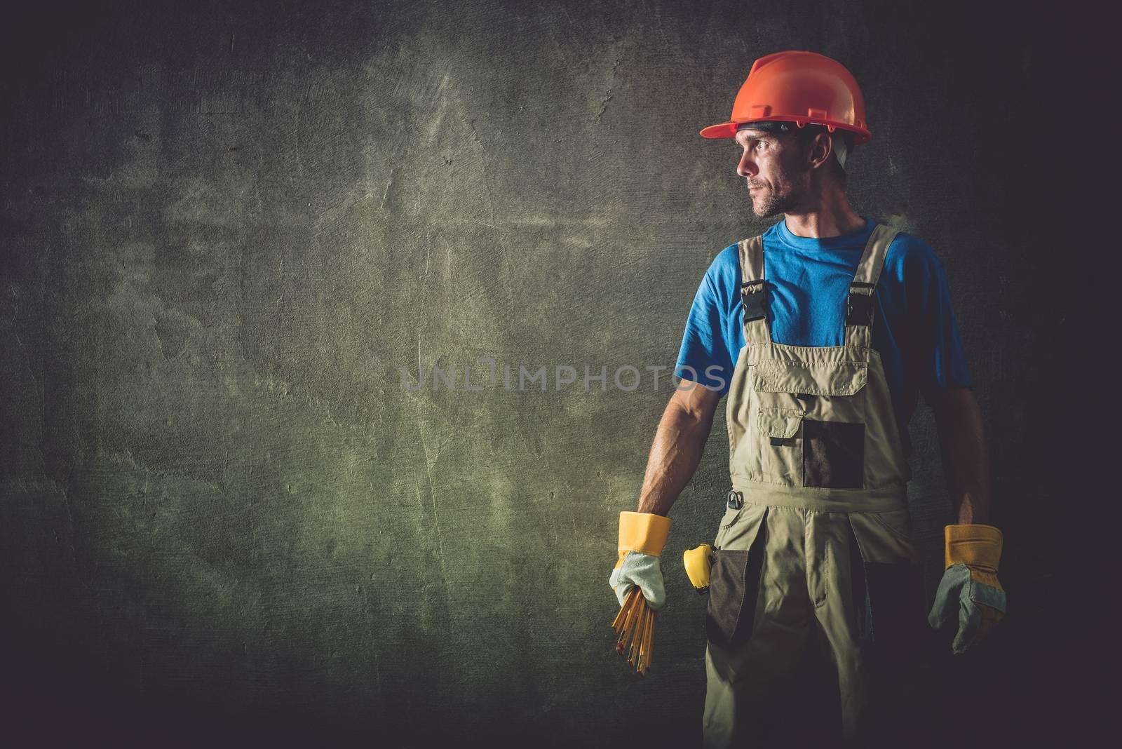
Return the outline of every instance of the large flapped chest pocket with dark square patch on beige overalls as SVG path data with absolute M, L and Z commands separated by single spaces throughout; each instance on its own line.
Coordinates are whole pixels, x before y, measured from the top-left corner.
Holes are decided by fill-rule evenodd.
M 753 377 L 749 474 L 788 487 L 865 486 L 868 366 L 765 360 Z

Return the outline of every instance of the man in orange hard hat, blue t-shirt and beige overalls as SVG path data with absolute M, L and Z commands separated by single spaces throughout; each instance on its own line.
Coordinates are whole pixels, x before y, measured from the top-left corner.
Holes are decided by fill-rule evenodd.
M 753 212 L 782 220 L 725 248 L 701 280 L 678 360 L 690 377 L 659 424 L 637 511 L 620 514 L 609 582 L 620 602 L 638 586 L 652 609 L 664 605 L 666 516 L 727 395 L 732 489 L 710 557 L 705 746 L 755 746 L 767 697 L 808 642 L 836 674 L 845 739 L 868 746 L 877 700 L 911 663 L 925 620 L 957 627 L 962 653 L 1005 609 L 947 279 L 922 240 L 847 201 L 847 158 L 871 133 L 836 61 L 761 57 L 732 118 L 701 136 L 734 139 Z M 919 395 L 935 413 L 956 520 L 929 613 L 905 501 Z

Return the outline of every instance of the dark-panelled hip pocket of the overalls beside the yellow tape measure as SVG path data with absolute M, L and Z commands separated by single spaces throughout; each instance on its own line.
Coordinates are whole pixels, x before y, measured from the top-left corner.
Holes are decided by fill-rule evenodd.
M 766 507 L 745 506 L 738 520 L 721 530 L 724 547 L 715 551 L 706 634 L 710 642 L 725 649 L 734 649 L 752 636 L 767 535 L 766 516 Z

